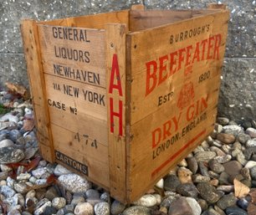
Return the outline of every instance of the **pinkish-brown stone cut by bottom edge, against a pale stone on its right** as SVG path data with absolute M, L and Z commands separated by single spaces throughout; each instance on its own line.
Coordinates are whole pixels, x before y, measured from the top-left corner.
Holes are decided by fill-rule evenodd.
M 193 215 L 192 207 L 190 207 L 186 197 L 180 197 L 177 201 L 172 202 L 169 207 L 168 215 L 180 214 Z

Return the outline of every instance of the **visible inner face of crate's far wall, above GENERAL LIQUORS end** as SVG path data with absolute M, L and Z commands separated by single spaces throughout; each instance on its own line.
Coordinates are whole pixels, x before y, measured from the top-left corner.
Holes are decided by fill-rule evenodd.
M 129 10 L 116 11 L 111 13 L 100 13 L 74 18 L 62 18 L 52 21 L 41 22 L 47 25 L 59 25 L 79 28 L 105 29 L 106 23 L 124 23 L 129 25 Z

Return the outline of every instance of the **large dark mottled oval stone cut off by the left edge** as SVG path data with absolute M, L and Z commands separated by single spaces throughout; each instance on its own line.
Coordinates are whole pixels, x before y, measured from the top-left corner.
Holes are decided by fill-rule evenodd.
M 13 146 L 0 148 L 0 163 L 16 163 L 23 160 L 24 152 Z

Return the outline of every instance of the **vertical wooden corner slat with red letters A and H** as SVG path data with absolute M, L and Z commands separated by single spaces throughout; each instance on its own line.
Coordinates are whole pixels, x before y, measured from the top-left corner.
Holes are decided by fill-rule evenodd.
M 123 24 L 106 25 L 110 193 L 127 202 L 125 143 L 125 38 Z

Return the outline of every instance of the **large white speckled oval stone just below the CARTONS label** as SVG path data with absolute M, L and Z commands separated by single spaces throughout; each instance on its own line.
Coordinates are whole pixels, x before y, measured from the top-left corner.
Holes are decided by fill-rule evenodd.
M 59 183 L 69 192 L 86 192 L 91 188 L 89 181 L 76 174 L 62 175 L 58 179 Z

